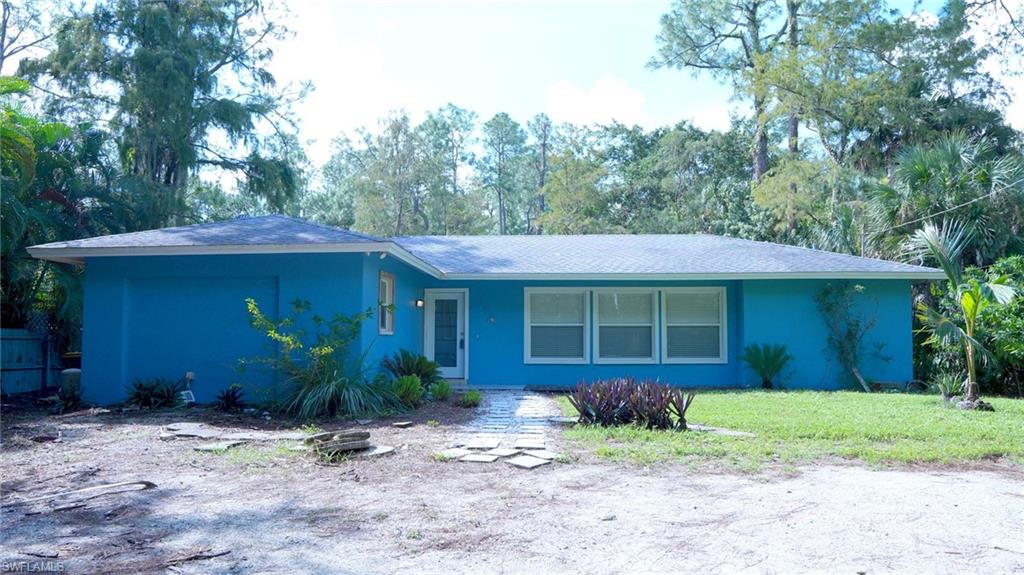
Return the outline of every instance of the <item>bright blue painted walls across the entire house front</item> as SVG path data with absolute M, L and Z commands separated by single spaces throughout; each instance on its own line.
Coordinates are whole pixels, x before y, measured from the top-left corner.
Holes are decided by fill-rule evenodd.
M 395 276 L 394 335 L 378 334 L 381 270 Z M 291 314 L 291 302 L 309 300 L 313 311 L 354 314 L 373 308 L 357 344 L 365 367 L 399 349 L 423 350 L 423 314 L 415 302 L 428 288 L 469 290 L 469 383 L 474 387 L 568 387 L 580 380 L 616 375 L 656 378 L 681 386 L 756 387 L 756 375 L 739 360 L 746 344 L 778 343 L 795 356 L 786 386 L 836 389 L 849 385 L 826 349 L 824 322 L 814 295 L 819 280 L 745 280 L 644 285 L 724 285 L 728 301 L 728 362 L 723 364 L 550 365 L 523 362 L 523 289 L 527 286 L 630 286 L 626 281 L 442 281 L 392 257 L 378 254 L 296 254 L 90 258 L 86 263 L 83 386 L 98 403 L 124 399 L 136 378 L 180 378 L 196 372 L 200 401 L 210 401 L 231 383 L 249 386 L 250 397 L 282 391 L 271 374 L 247 370 L 237 360 L 266 353 L 265 339 L 249 326 L 245 298 L 254 297 L 268 315 Z M 868 349 L 882 345 L 888 361 L 867 358 L 864 373 L 879 380 L 912 377 L 910 284 L 870 280 L 859 305 L 877 318 Z M 592 307 L 593 309 L 593 307 Z M 594 321 L 591 328 L 594 329 Z M 591 342 L 593 345 L 593 334 Z M 593 353 L 591 354 L 593 357 Z

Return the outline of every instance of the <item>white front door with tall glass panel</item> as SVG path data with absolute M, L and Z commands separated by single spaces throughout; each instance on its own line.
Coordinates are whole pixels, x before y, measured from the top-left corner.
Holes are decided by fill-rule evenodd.
M 466 379 L 465 290 L 427 290 L 424 294 L 423 355 L 441 366 L 447 380 Z

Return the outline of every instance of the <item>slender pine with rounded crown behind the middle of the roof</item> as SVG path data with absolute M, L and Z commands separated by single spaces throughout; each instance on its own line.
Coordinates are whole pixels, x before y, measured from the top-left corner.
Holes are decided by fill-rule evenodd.
M 518 230 L 515 210 L 522 200 L 526 132 L 508 114 L 500 113 L 483 125 L 483 150 L 477 170 L 498 200 L 498 233 Z

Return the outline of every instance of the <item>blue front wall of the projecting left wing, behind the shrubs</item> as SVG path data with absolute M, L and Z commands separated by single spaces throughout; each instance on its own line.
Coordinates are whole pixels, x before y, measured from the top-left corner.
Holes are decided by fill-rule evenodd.
M 239 358 L 267 353 L 266 339 L 249 326 L 245 299 L 256 298 L 271 317 L 291 315 L 296 299 L 308 300 L 324 317 L 357 313 L 365 308 L 361 277 L 369 258 L 361 253 L 89 258 L 85 397 L 113 403 L 124 399 L 135 379 L 176 380 L 194 371 L 201 402 L 232 383 L 246 385 L 250 399 L 268 398 L 281 391 L 274 377 L 251 368 L 240 375 L 236 369 Z

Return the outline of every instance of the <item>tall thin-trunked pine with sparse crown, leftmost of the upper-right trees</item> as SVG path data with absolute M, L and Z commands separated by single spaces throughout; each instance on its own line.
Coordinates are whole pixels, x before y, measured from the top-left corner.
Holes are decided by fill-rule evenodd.
M 650 61 L 653 68 L 708 72 L 751 98 L 756 180 L 768 171 L 769 93 L 758 79 L 769 56 L 785 42 L 790 25 L 779 25 L 780 12 L 777 0 L 675 0 L 672 11 L 662 16 L 658 51 Z

